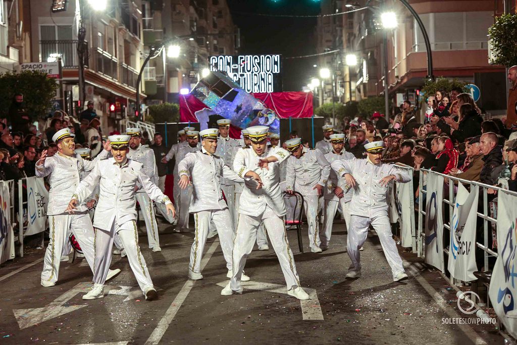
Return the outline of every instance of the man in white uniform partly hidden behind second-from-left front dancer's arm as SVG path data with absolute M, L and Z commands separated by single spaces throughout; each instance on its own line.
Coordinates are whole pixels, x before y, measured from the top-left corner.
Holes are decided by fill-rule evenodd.
M 127 157 L 142 163 L 143 173 L 149 177 L 151 182 L 158 186 L 158 168 L 156 167 L 155 154 L 149 146 L 142 145 L 142 133 L 140 128 L 126 128 L 126 134 L 131 137 L 129 139 L 129 152 Z M 151 200 L 142 189 L 136 191 L 135 198 L 140 204 L 140 209 L 144 216 L 149 248 L 153 251 L 161 251 L 153 200 Z

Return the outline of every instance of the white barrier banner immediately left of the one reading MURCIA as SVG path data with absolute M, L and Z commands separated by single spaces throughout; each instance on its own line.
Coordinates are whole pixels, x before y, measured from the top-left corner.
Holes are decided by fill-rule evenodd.
M 443 194 L 444 177 L 436 174 L 427 176 L 425 203 L 425 263 L 444 271 L 443 243 Z

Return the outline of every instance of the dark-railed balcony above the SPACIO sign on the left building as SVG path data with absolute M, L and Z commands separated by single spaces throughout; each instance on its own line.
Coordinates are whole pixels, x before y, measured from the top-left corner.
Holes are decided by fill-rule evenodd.
M 59 56 L 61 57 L 63 68 L 79 68 L 78 43 L 78 40 L 39 41 L 41 62 L 46 62 L 51 56 Z M 88 42 L 84 41 L 83 44 L 85 52 L 84 66 L 88 66 Z

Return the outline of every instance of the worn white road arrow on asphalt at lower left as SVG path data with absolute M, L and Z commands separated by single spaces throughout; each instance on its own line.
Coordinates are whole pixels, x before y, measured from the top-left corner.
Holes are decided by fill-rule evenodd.
M 88 292 L 90 287 L 92 287 L 92 283 L 82 282 L 42 308 L 13 309 L 12 312 L 14 313 L 14 317 L 16 318 L 20 329 L 31 327 L 38 323 L 48 321 L 50 319 L 57 318 L 58 316 L 62 316 L 63 314 L 86 307 L 87 304 L 71 306 L 65 304 L 67 304 L 68 301 L 78 293 Z M 114 288 L 119 289 L 115 290 Z M 107 295 L 127 295 L 128 297 L 124 299 L 124 302 L 136 297 L 142 297 L 142 291 L 139 288 L 126 286 L 105 285 L 104 293 Z M 126 344 L 127 341 L 123 343 Z

